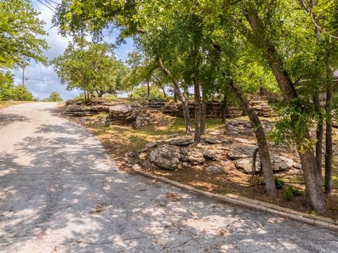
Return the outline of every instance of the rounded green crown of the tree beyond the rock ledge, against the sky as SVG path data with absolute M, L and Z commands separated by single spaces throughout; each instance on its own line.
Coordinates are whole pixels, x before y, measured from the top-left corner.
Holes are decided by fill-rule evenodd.
M 91 96 L 115 94 L 127 74 L 127 67 L 116 59 L 110 45 L 94 44 L 83 37 L 75 38 L 63 56 L 51 63 L 67 90 L 82 89 Z

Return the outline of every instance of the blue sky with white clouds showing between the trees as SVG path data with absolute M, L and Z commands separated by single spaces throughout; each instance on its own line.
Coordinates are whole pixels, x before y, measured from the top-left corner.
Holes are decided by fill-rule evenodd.
M 53 11 L 51 11 L 51 9 L 39 3 L 39 1 L 32 0 L 31 2 L 32 6 L 41 13 L 39 18 L 46 22 L 44 29 L 48 32 L 48 35 L 44 38 L 50 48 L 46 51 L 45 56 L 51 60 L 63 53 L 71 39 L 61 37 L 61 35 L 58 34 L 57 27 L 52 27 L 51 18 L 53 16 Z M 118 31 L 111 33 L 111 37 L 106 37 L 104 40 L 114 43 L 116 34 L 118 34 L 117 32 Z M 120 45 L 118 48 L 115 48 L 114 51 L 116 56 L 124 61 L 127 58 L 127 53 L 132 51 L 132 49 L 132 39 L 129 39 L 126 44 Z M 13 74 L 15 75 L 15 83 L 22 84 L 22 70 L 13 70 Z M 51 92 L 56 91 L 60 93 L 64 100 L 66 100 L 74 98 L 80 93 L 80 91 L 65 91 L 65 85 L 61 84 L 59 81 L 56 72 L 53 70 L 53 66 L 45 67 L 41 63 L 35 62 L 32 62 L 30 67 L 25 68 L 25 85 L 37 98 L 46 98 Z

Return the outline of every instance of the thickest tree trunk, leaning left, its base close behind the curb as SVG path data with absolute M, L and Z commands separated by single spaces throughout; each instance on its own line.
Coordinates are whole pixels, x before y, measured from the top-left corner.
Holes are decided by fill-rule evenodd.
M 294 84 L 292 84 L 292 80 L 284 67 L 284 63 L 277 55 L 272 42 L 268 40 L 268 36 L 265 36 L 265 27 L 261 22 L 258 13 L 254 10 L 254 8 L 246 8 L 245 14 L 246 19 L 249 21 L 252 28 L 253 34 L 256 35 L 251 37 L 251 34 L 246 34 L 246 36 L 254 46 L 265 50 L 265 58 L 268 61 L 275 78 L 277 79 L 284 102 L 289 104 L 292 100 L 297 99 L 297 93 L 294 89 Z M 258 41 L 255 39 L 257 37 L 262 37 L 264 41 Z M 294 119 L 295 122 L 297 120 L 298 119 Z M 308 131 L 308 129 L 306 129 L 306 131 Z M 294 134 L 297 135 L 298 133 L 294 132 Z M 310 138 L 310 134 L 307 134 L 306 138 Z M 301 166 L 304 173 L 308 200 L 315 211 L 318 212 L 318 214 L 321 214 L 325 212 L 325 202 L 320 177 L 318 176 L 317 162 L 315 161 L 315 155 L 313 154 L 313 148 L 310 146 L 302 147 L 301 143 L 297 143 L 297 150 L 299 157 L 301 158 Z

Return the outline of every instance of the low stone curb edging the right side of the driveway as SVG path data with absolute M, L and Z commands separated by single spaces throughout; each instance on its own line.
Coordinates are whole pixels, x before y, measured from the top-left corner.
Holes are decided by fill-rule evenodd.
M 192 186 L 187 186 L 183 183 L 179 183 L 177 181 L 166 179 L 163 176 L 156 176 L 156 175 L 150 174 L 145 171 L 140 171 L 140 170 L 134 170 L 134 172 L 142 176 L 146 176 L 150 179 L 156 179 L 163 183 L 168 183 L 172 186 L 176 186 L 178 188 L 188 190 L 189 192 L 196 193 L 198 195 L 203 195 L 205 197 L 209 197 L 214 200 L 220 200 L 223 202 L 230 203 L 232 205 L 242 205 L 244 207 L 250 207 L 250 208 L 257 209 L 257 210 L 267 212 L 270 214 L 277 214 L 278 216 L 282 216 L 284 218 L 294 219 L 296 221 L 301 221 L 301 222 L 308 223 L 314 226 L 320 226 L 323 228 L 330 228 L 330 229 L 338 230 L 338 221 L 334 221 L 331 218 L 298 212 L 293 209 L 280 207 L 280 206 L 269 204 L 266 202 L 261 202 L 258 200 L 251 200 L 248 197 L 242 197 L 242 196 L 233 195 L 233 194 L 219 195 L 215 193 L 208 193 L 205 190 L 199 190 Z

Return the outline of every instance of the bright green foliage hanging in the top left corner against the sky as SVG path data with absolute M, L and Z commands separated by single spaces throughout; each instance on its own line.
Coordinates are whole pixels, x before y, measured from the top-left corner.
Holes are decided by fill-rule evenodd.
M 0 67 L 27 65 L 30 59 L 46 64 L 48 48 L 41 35 L 44 22 L 28 0 L 0 0 Z

